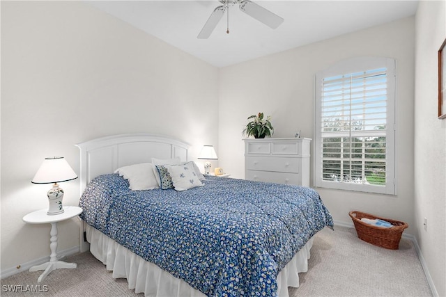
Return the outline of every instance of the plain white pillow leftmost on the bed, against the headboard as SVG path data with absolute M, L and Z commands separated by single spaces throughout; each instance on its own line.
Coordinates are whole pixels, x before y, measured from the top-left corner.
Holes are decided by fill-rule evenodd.
M 153 166 L 151 163 L 140 163 L 130 166 L 124 166 L 115 170 L 119 175 L 124 177 L 130 183 L 130 190 L 152 190 L 158 188 L 155 175 L 153 174 Z

